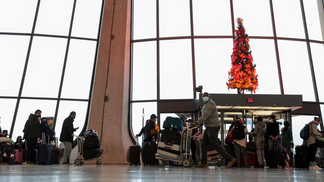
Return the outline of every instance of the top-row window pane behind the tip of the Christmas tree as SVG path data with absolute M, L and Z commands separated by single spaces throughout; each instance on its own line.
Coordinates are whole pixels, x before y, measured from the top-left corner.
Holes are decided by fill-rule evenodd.
M 233 0 L 233 9 L 235 27 L 237 26 L 236 18 L 241 17 L 247 34 L 251 36 L 274 36 L 269 1 Z

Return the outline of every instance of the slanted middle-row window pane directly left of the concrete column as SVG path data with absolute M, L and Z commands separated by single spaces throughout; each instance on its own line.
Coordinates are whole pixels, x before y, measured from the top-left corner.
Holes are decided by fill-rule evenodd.
M 61 98 L 89 98 L 96 46 L 96 41 L 71 39 Z

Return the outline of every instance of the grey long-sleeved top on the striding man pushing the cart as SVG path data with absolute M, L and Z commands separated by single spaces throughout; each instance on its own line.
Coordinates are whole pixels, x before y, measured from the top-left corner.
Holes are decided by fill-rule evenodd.
M 217 127 L 221 126 L 218 119 L 217 106 L 211 99 L 204 103 L 202 108 L 202 116 L 197 121 L 198 124 L 204 123 L 205 127 Z

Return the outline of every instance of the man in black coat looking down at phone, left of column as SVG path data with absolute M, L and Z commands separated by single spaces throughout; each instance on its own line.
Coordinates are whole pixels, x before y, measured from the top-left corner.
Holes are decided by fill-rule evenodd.
M 70 164 L 70 155 L 72 151 L 72 145 L 73 142 L 73 132 L 77 131 L 79 127 L 74 128 L 73 127 L 73 121 L 76 117 L 77 113 L 72 111 L 70 115 L 65 118 L 63 125 L 62 125 L 62 131 L 60 135 L 60 141 L 64 143 L 65 149 L 64 149 L 64 155 L 63 155 L 63 164 Z

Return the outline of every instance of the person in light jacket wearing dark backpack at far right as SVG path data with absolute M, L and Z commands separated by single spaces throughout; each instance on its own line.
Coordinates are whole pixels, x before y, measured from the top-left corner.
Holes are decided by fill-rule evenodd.
M 322 134 L 318 132 L 316 126 L 321 123 L 321 119 L 318 117 L 314 117 L 313 121 L 310 121 L 309 124 L 309 138 L 307 140 L 308 147 L 308 161 L 309 161 L 309 169 L 322 169 L 316 165 L 315 154 L 317 150 L 316 138 L 322 137 Z

